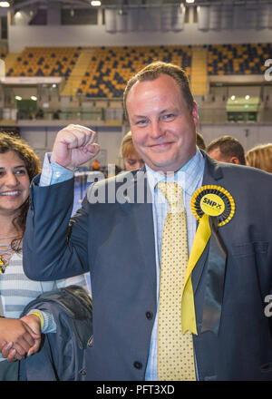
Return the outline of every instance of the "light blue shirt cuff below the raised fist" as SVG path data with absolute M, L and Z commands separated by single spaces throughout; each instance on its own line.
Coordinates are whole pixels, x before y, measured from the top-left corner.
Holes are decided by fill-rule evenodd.
M 51 163 L 50 158 L 51 152 L 46 152 L 40 179 L 41 187 L 73 179 L 73 170 L 63 168 L 63 166 L 56 162 Z

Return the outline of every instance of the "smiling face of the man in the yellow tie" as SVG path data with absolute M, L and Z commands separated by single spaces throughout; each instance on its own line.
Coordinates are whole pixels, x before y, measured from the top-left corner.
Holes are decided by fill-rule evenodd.
M 126 100 L 135 150 L 153 170 L 175 172 L 196 153 L 197 104 L 192 110 L 167 74 L 135 83 Z

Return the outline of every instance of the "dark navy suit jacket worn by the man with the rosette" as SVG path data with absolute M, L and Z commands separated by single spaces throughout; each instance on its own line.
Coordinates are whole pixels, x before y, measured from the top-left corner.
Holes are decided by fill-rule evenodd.
M 207 331 L 194 336 L 199 379 L 272 380 L 270 319 L 264 313 L 272 282 L 272 175 L 204 156 L 203 185 L 228 190 L 236 211 L 219 228 L 228 249 L 219 335 Z M 84 199 L 69 229 L 73 180 L 38 187 L 37 177 L 31 187 L 25 274 L 53 280 L 91 271 L 90 380 L 143 380 L 148 361 L 157 308 L 152 206 L 134 200 L 142 173 L 128 176 L 123 195 L 120 177 L 92 185 L 90 196 L 105 190 L 107 199 L 108 193 L 119 192 L 123 203 Z M 192 273 L 199 331 L 206 277 L 204 256 Z

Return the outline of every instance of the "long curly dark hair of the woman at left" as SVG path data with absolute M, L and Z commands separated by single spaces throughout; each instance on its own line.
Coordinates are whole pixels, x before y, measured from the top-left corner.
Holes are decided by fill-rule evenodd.
M 41 171 L 39 158 L 23 139 L 11 135 L 10 133 L 6 133 L 5 131 L 0 131 L 0 154 L 4 154 L 8 151 L 15 151 L 18 157 L 24 161 L 30 181 L 33 180 L 34 176 Z M 13 219 L 13 225 L 20 233 L 20 238 L 16 238 L 11 244 L 15 251 L 19 251 L 22 247 L 28 208 L 29 197 L 24 201 L 24 204 L 21 205 L 19 215 Z

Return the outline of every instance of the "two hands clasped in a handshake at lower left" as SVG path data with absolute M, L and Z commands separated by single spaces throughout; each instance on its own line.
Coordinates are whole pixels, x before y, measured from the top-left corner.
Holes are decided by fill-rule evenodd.
M 23 320 L 1 318 L 0 351 L 8 362 L 22 360 L 38 339 L 40 335 L 35 334 Z

